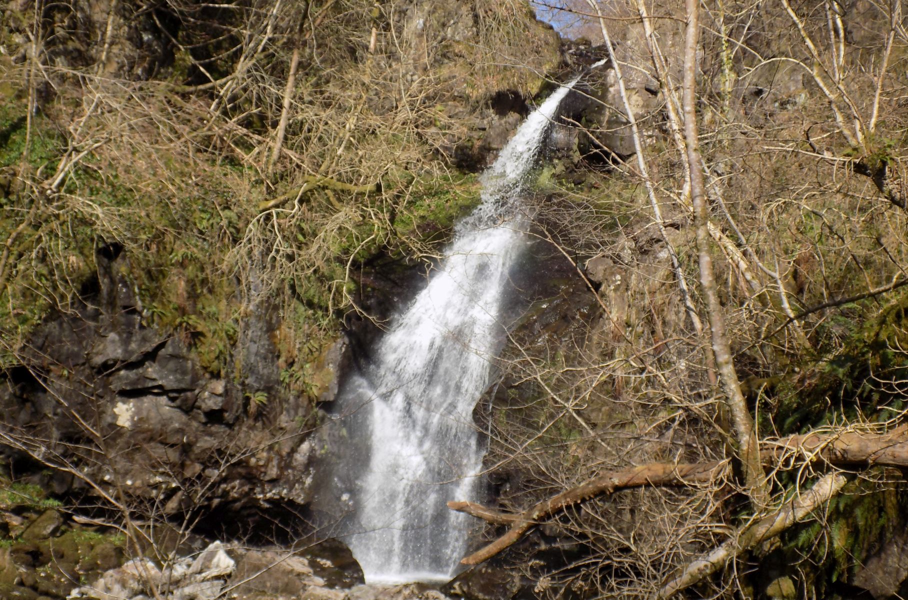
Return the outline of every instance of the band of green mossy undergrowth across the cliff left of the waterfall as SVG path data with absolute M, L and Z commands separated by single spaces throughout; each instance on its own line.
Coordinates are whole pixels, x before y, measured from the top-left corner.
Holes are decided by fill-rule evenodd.
M 203 369 L 239 379 L 242 321 L 258 310 L 244 293 L 248 263 L 269 253 L 247 238 L 255 227 L 273 227 L 257 209 L 275 193 L 260 173 L 216 153 L 102 146 L 84 156 L 58 193 L 42 195 L 22 183 L 23 173 L 40 185 L 54 172 L 65 152 L 57 133 L 62 105 L 36 114 L 26 156 L 23 93 L 6 84 L 3 91 L 0 240 L 12 236 L 15 243 L 0 290 L 0 367 L 18 364 L 30 333 L 56 311 L 85 304 L 120 310 L 101 306 L 99 290 L 115 280 L 145 325 L 180 336 Z M 436 251 L 479 202 L 473 174 L 400 172 L 386 180 L 382 192 L 366 197 L 312 192 L 303 218 L 277 223 L 281 256 L 299 258 L 291 272 L 261 276 L 280 311 L 275 359 L 291 389 L 314 393 L 315 364 L 359 286 L 351 272 L 379 254 Z M 271 266 L 266 260 L 265 269 Z

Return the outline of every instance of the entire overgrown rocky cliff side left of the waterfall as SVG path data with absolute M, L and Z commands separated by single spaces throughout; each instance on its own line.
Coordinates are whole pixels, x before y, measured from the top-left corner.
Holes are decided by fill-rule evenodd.
M 271 54 L 231 49 L 246 24 L 230 7 L 19 0 L 5 14 L 0 200 L 16 215 L 2 221 L 12 252 L 0 265 L 5 304 L 15 306 L 0 314 L 9 485 L 38 486 L 104 524 L 130 515 L 256 542 L 327 535 L 306 524 L 313 458 L 324 451 L 312 432 L 341 369 L 368 358 L 357 355 L 375 331 L 363 316 L 387 316 L 408 296 L 407 281 L 419 285 L 414 257 L 437 248 L 475 202 L 470 173 L 494 158 L 550 88 L 543 75 L 558 77 L 564 67 L 558 34 L 524 5 L 427 0 L 373 15 L 370 3 L 333 4 L 311 15 L 324 37 L 302 34 L 301 42 L 287 25 L 299 11 L 249 12 L 262 19 L 256 44 L 273 46 Z M 380 51 L 370 50 L 370 34 Z M 321 45 L 332 36 L 356 41 Z M 267 86 L 255 78 L 282 85 L 294 44 L 305 48 L 307 71 L 291 103 L 324 109 L 324 134 L 308 128 L 312 114 L 291 120 L 264 181 L 248 144 L 277 128 L 281 98 L 262 100 Z M 490 64 L 493 46 L 521 64 Z M 29 79 L 33 68 L 44 70 L 40 81 Z M 97 102 L 83 103 L 93 93 Z M 243 115 L 252 97 L 274 110 Z M 205 119 L 219 123 L 213 136 L 202 131 Z M 35 139 L 47 142 L 23 152 Z M 328 139 L 331 160 L 343 155 L 346 164 L 321 155 Z M 48 180 L 49 162 L 62 171 Z M 342 181 L 350 168 L 357 174 Z M 440 181 L 444 170 L 455 174 Z M 276 274 L 274 261 L 259 261 L 273 240 L 262 245 L 257 223 L 274 216 L 261 202 L 306 172 L 341 185 L 301 196 L 292 213 L 305 211 L 321 231 L 297 221 L 280 227 L 293 231 L 293 251 L 318 255 Z M 369 178 L 381 195 L 360 202 L 350 188 Z M 370 212 L 354 212 L 360 208 Z M 382 221 L 390 226 L 373 228 Z M 335 223 L 352 233 L 319 245 Z M 351 223 L 365 223 L 372 241 Z M 259 245 L 245 246 L 249 240 Z M 30 265 L 20 262 L 25 256 Z M 354 306 L 369 313 L 348 314 Z M 339 340 L 353 322 L 360 332 L 350 349 Z M 34 507 L 2 510 L 0 534 L 10 540 L 44 518 Z M 82 535 L 70 516 L 50 515 L 60 522 L 40 544 Z M 135 537 L 127 530 L 125 542 L 99 542 L 109 560 L 91 568 L 70 556 L 41 585 L 32 575 L 51 568 L 54 552 L 15 548 L 0 563 L 10 577 L 0 584 L 15 585 L 15 597 L 62 597 L 72 578 L 94 579 L 131 556 L 141 563 Z M 20 567 L 32 574 L 27 581 L 11 575 Z

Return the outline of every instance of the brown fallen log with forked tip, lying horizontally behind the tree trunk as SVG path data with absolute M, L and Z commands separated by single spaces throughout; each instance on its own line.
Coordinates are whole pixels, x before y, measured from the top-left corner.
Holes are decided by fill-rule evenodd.
M 810 461 L 825 461 L 844 467 L 908 467 L 908 426 L 884 434 L 863 434 L 854 431 L 838 433 L 815 432 L 779 439 L 762 440 L 760 457 L 764 464 L 776 464 L 788 457 L 804 457 Z M 803 460 L 792 461 L 780 468 L 793 468 Z M 607 471 L 586 483 L 539 502 L 521 513 L 508 513 L 484 507 L 474 502 L 449 502 L 451 510 L 477 516 L 496 525 L 509 525 L 498 539 L 467 556 L 460 562 L 478 565 L 513 545 L 539 519 L 559 510 L 579 504 L 591 497 L 611 494 L 630 487 L 679 487 L 715 482 L 727 472 L 728 462 L 710 463 L 651 463 L 640 467 Z

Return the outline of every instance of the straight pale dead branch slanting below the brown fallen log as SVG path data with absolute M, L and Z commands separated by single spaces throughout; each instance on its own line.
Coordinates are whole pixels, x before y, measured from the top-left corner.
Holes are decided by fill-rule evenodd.
M 745 552 L 745 550 L 778 536 L 785 529 L 795 525 L 795 523 L 829 501 L 844 485 L 845 477 L 841 473 L 830 473 L 821 477 L 814 487 L 811 487 L 804 494 L 795 495 L 773 515 L 757 521 L 753 526 L 745 527 L 737 535 L 729 538 L 722 546 L 718 546 L 706 555 L 689 563 L 684 567 L 680 575 L 677 575 L 666 585 L 662 586 L 657 597 L 668 598 L 677 594 L 686 587 L 694 585 L 701 579 L 716 573 L 725 563 Z

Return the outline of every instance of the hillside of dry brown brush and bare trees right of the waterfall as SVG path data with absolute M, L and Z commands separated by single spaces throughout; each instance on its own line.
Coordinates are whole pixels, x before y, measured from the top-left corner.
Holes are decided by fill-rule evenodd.
M 852 593 L 888 543 L 880 523 L 903 524 L 901 470 L 804 447 L 760 467 L 755 448 L 903 424 L 902 4 L 538 4 L 610 38 L 624 78 L 660 93 L 631 111 L 616 77 L 613 110 L 642 152 L 592 186 L 566 177 L 540 209 L 601 316 L 568 343 L 515 340 L 489 462 L 519 484 L 489 520 L 518 525 L 471 560 L 541 523 L 565 566 L 528 572 L 553 597 Z M 670 487 L 616 491 L 637 469 Z M 560 510 L 539 513 L 547 502 Z

